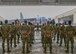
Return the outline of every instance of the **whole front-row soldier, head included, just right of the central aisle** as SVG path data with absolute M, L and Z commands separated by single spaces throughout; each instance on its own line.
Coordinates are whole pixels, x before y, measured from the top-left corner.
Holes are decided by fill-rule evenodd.
M 43 25 L 42 43 L 44 47 L 44 52 L 46 52 L 47 46 L 49 45 L 50 53 L 52 53 L 52 32 L 53 32 L 53 26 L 52 24 L 50 24 L 50 22 L 47 22 L 47 24 Z

